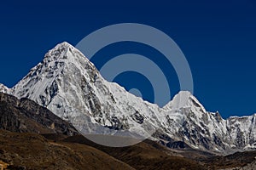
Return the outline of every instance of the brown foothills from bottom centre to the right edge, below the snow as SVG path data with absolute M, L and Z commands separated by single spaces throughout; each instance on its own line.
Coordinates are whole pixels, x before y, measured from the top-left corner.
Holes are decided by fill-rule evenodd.
M 247 165 L 252 166 L 256 156 L 256 151 L 216 156 L 189 148 L 170 150 L 148 139 L 139 144 L 122 148 L 95 144 L 81 135 L 67 137 L 62 139 L 62 141 L 90 145 L 124 161 L 136 169 L 235 169 Z

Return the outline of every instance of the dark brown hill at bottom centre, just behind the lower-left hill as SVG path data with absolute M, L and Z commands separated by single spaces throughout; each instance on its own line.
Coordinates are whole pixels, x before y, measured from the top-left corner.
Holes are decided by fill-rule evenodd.
M 63 141 L 90 145 L 98 150 L 108 153 L 108 155 L 113 156 L 120 161 L 124 161 L 136 169 L 205 169 L 196 161 L 181 156 L 168 155 L 168 150 L 160 144 L 148 140 L 122 148 L 111 148 L 95 144 L 90 140 L 85 139 L 83 136 L 68 137 Z

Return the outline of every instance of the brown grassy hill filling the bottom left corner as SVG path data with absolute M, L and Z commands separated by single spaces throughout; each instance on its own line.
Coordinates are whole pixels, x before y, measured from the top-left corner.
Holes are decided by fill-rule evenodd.
M 9 169 L 133 169 L 84 144 L 57 144 L 39 134 L 5 130 L 0 130 L 1 165 Z

